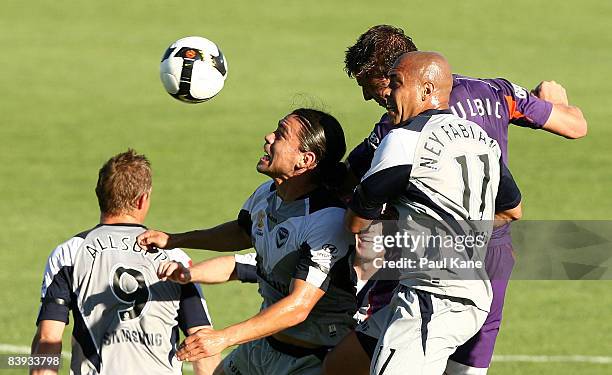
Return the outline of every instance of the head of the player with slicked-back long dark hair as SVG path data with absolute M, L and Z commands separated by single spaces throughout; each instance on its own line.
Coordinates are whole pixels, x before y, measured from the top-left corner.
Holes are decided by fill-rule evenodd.
M 346 142 L 342 126 L 332 115 L 296 109 L 278 122 L 265 141 L 265 155 L 257 164 L 260 173 L 280 180 L 308 173 L 317 184 L 340 182 Z

